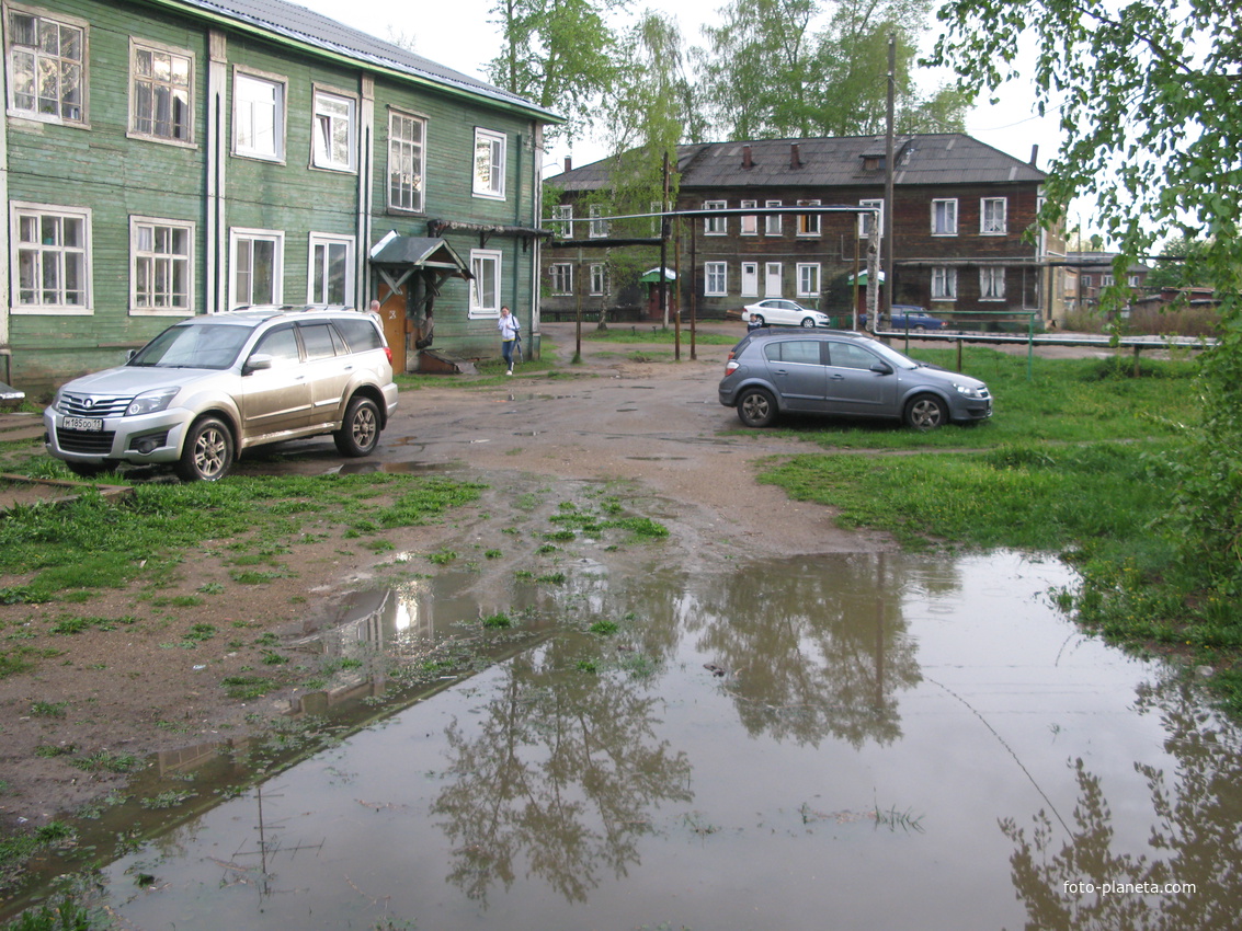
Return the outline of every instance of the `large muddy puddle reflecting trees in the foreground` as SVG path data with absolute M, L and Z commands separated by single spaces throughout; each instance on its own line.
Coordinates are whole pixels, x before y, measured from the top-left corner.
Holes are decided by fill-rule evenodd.
M 560 633 L 107 894 L 147 931 L 1230 926 L 1237 734 L 1083 637 L 1047 595 L 1072 581 L 1013 554 L 591 566 Z

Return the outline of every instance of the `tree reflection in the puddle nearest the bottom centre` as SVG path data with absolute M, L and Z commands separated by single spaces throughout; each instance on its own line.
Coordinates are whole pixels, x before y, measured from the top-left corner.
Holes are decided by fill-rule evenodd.
M 452 782 L 432 804 L 453 843 L 450 879 L 482 901 L 527 875 L 585 901 L 638 860 L 648 808 L 689 801 L 689 762 L 657 741 L 656 700 L 620 675 L 566 673 L 569 644 L 517 657 L 477 735 L 447 730 Z

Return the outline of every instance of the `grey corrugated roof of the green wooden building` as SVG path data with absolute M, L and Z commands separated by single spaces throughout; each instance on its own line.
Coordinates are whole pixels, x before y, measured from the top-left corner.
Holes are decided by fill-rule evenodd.
M 158 0 L 166 6 L 194 7 L 211 16 L 258 27 L 284 38 L 351 58 L 376 70 L 406 74 L 451 91 L 525 110 L 548 123 L 564 122 L 555 113 L 486 81 L 437 65 L 430 58 L 370 36 L 286 0 Z

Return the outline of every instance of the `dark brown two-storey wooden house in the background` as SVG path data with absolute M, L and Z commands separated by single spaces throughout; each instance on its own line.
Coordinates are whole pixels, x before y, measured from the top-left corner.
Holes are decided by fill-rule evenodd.
M 902 137 L 894 145 L 894 204 L 886 205 L 884 161 L 884 139 L 876 137 L 679 146 L 676 207 L 734 211 L 696 218 L 693 227 L 686 221 L 681 263 L 688 262 L 689 236 L 696 258 L 693 269 L 681 269 L 683 307 L 693 289 L 704 317 L 765 297 L 847 313 L 856 294 L 863 303 L 858 292 L 866 288 L 856 289 L 853 281 L 866 268 L 871 223 L 878 221 L 881 235 L 894 237 L 894 267 L 882 269 L 893 303 L 927 307 L 963 326 L 1025 320 L 1031 313 L 1051 319 L 1059 312 L 1049 264 L 1059 245 L 1043 233 L 1025 238 L 1035 225 L 1043 171 L 960 133 Z M 610 242 L 610 169 L 604 160 L 545 181 L 561 192 L 548 218 L 559 240 L 544 250 L 545 312 L 564 313 L 586 295 L 621 313 L 650 313 L 647 293 L 633 282 L 607 282 L 602 293 L 600 269 L 609 252 L 592 250 L 591 241 Z M 799 206 L 879 212 L 799 214 Z M 790 210 L 738 215 L 746 207 Z

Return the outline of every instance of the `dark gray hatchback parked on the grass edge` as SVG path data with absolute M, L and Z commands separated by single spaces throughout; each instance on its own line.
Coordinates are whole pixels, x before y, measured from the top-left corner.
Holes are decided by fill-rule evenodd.
M 748 427 L 780 413 L 888 417 L 915 430 L 992 416 L 987 386 L 848 330 L 755 330 L 729 354 L 720 403 Z

